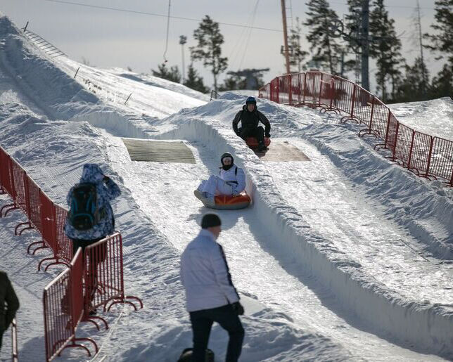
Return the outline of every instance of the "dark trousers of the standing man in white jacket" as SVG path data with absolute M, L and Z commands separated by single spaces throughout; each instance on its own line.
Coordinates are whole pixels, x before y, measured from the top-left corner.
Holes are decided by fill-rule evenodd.
M 229 334 L 226 362 L 236 362 L 241 355 L 244 328 L 231 304 L 190 313 L 193 331 L 193 362 L 205 362 L 212 323 L 217 322 Z

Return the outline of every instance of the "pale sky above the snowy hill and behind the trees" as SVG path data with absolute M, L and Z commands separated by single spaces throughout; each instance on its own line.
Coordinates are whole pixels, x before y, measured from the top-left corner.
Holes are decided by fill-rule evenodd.
M 61 0 L 66 1 L 66 0 Z M 167 34 L 168 0 L 69 0 L 72 4 L 62 4 L 60 0 L 0 0 L 0 12 L 7 15 L 18 27 L 24 27 L 30 21 L 28 29 L 50 41 L 74 60 L 82 57 L 90 65 L 98 67 L 132 67 L 135 72 L 157 70 L 163 61 L 165 37 Z M 293 19 L 305 20 L 307 0 L 286 0 L 291 5 Z M 347 12 L 346 0 L 331 0 L 338 16 Z M 423 32 L 430 32 L 434 21 L 435 0 L 419 0 Z M 292 3 L 292 4 L 291 4 Z M 105 8 L 80 6 L 101 6 L 119 8 L 127 11 L 113 11 Z M 396 21 L 397 34 L 401 35 L 404 58 L 412 65 L 419 55 L 419 47 L 414 38 L 415 31 L 411 18 L 415 14 L 416 0 L 386 0 L 389 15 Z M 253 13 L 256 7 L 255 18 Z M 141 13 L 140 13 L 141 12 Z M 143 14 L 148 13 L 148 14 Z M 157 14 L 157 15 L 151 15 Z M 290 16 L 288 11 L 287 16 Z M 165 16 L 158 16 L 165 15 Z M 228 70 L 246 67 L 264 68 L 267 82 L 276 75 L 285 72 L 284 58 L 280 55 L 283 44 L 280 0 L 171 0 L 170 15 L 180 18 L 201 20 L 205 15 L 221 23 L 252 25 L 264 29 L 245 29 L 240 26 L 221 24 L 224 35 L 222 56 L 228 57 Z M 190 61 L 189 46 L 196 45 L 193 30 L 199 21 L 170 18 L 170 32 L 166 58 L 167 65 L 178 65 L 181 69 L 181 45 L 179 36 L 188 38 L 185 46 L 185 61 Z M 302 32 L 306 30 L 302 27 Z M 303 39 L 302 46 L 308 50 Z M 435 54 L 424 51 L 426 64 L 433 77 L 442 67 L 442 60 L 436 61 Z M 201 63 L 194 63 L 205 84 L 212 86 L 212 75 Z M 370 64 L 370 79 L 374 84 L 375 67 Z M 224 76 L 220 75 L 222 82 Z M 353 80 L 353 79 L 352 79 Z

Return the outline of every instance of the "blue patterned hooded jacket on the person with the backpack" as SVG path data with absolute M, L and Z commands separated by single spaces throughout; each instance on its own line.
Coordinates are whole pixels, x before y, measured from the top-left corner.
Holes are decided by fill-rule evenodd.
M 98 224 L 93 226 L 93 228 L 85 231 L 75 229 L 68 223 L 68 221 L 66 221 L 65 234 L 68 235 L 68 238 L 70 239 L 94 240 L 104 238 L 115 231 L 115 219 L 110 201 L 121 195 L 121 190 L 111 179 L 104 181 L 104 174 L 101 167 L 94 163 L 84 164 L 82 177 L 80 178 L 80 183 L 83 182 L 96 183 L 99 208 L 105 209 L 106 216 L 103 217 Z M 69 190 L 68 196 L 66 196 L 66 202 L 68 202 L 68 205 L 70 205 L 70 198 L 73 189 L 74 187 Z

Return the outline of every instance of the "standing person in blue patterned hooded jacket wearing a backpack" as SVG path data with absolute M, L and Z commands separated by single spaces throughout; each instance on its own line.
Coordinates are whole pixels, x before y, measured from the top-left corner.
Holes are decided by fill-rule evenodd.
M 115 218 L 110 201 L 121 194 L 120 188 L 103 174 L 98 164 L 84 164 L 79 183 L 68 192 L 66 201 L 70 207 L 65 223 L 65 234 L 72 240 L 72 254 L 82 247 L 96 243 L 115 231 Z M 106 250 L 98 253 L 96 260 L 90 260 L 89 271 L 91 290 L 96 290 L 97 265 L 106 259 Z M 92 300 L 94 295 L 90 296 Z

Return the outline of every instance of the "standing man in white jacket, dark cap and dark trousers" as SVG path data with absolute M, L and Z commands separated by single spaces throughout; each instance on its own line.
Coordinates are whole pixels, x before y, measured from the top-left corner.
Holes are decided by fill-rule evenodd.
M 193 331 L 192 361 L 204 362 L 212 323 L 229 333 L 227 362 L 238 361 L 244 329 L 239 315 L 244 313 L 231 281 L 222 246 L 216 242 L 222 222 L 217 214 L 205 214 L 202 230 L 181 256 L 181 282 L 186 290 L 186 308 Z

